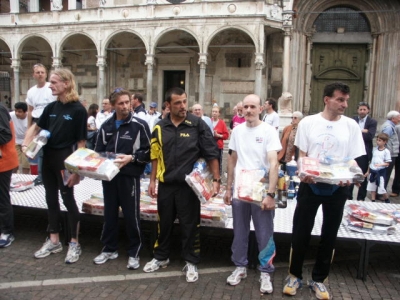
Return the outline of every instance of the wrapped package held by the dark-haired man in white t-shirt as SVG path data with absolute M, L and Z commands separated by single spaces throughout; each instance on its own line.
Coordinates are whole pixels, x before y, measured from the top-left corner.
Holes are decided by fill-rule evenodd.
M 353 183 L 362 183 L 364 175 L 360 167 L 354 165 L 354 161 L 329 161 L 320 162 L 317 158 L 301 157 L 299 158 L 299 177 L 304 178 L 307 175 L 314 177 L 315 182 L 328 184 L 338 184 L 341 181 L 350 181 Z

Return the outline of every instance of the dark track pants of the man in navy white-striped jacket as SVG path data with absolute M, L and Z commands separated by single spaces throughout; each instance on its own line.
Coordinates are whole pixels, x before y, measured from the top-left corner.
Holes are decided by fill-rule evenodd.
M 122 208 L 128 236 L 128 255 L 137 258 L 142 248 L 140 230 L 140 178 L 118 173 L 111 181 L 102 181 L 104 194 L 103 252 L 118 250 L 119 207 Z

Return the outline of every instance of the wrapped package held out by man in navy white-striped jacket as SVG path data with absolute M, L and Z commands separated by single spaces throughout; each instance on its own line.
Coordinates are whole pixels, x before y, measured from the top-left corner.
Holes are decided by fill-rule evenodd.
M 118 174 L 118 165 L 114 163 L 116 154 L 97 153 L 86 148 L 79 148 L 64 161 L 65 168 L 81 176 L 99 180 L 112 180 Z

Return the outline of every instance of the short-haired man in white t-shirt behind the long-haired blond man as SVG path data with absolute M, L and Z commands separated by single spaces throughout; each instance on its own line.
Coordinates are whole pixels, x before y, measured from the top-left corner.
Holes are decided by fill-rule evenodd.
M 50 82 L 47 82 L 47 69 L 43 64 L 35 64 L 33 66 L 33 78 L 36 80 L 36 85 L 31 87 L 26 94 L 26 103 L 28 104 L 28 127 L 32 126 L 32 123 L 37 123 L 44 108 L 51 102 L 57 100 L 57 97 L 53 96 L 50 89 Z M 34 180 L 35 185 L 42 183 L 42 161 L 43 151 L 37 154 L 37 165 L 38 165 L 38 176 Z

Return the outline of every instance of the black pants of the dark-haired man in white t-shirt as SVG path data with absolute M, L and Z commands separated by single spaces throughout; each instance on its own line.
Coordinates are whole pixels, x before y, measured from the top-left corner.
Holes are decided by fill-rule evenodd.
M 293 216 L 290 274 L 302 279 L 304 257 L 308 251 L 315 216 L 318 207 L 322 205 L 323 223 L 312 279 L 323 282 L 328 277 L 347 193 L 347 187 L 340 187 L 332 196 L 318 196 L 308 184 L 300 183 Z

